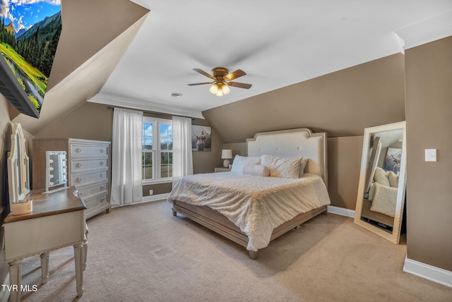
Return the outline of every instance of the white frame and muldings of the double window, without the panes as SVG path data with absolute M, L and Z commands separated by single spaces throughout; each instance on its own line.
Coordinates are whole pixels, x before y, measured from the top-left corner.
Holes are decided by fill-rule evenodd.
M 171 177 L 160 177 L 162 169 L 161 169 L 161 159 L 162 159 L 162 152 L 172 153 L 173 150 L 161 150 L 160 149 L 160 125 L 172 125 L 172 119 L 160 119 L 152 116 L 143 116 L 143 126 L 144 123 L 153 123 L 153 149 L 143 149 L 143 142 L 141 143 L 141 154 L 143 157 L 143 154 L 152 152 L 152 159 L 153 159 L 153 179 L 143 179 L 143 173 L 142 173 L 142 179 L 141 183 L 143 185 L 145 184 L 153 184 L 153 183 L 170 183 L 172 182 L 172 176 Z M 144 128 L 141 127 L 141 131 L 143 131 L 143 140 L 144 140 Z M 143 169 L 143 164 L 141 166 L 141 169 Z

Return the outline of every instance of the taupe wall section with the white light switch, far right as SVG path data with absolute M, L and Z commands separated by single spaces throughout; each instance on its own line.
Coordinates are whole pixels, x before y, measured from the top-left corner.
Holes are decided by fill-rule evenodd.
M 452 37 L 405 52 L 408 258 L 452 271 Z M 437 149 L 438 162 L 424 150 Z

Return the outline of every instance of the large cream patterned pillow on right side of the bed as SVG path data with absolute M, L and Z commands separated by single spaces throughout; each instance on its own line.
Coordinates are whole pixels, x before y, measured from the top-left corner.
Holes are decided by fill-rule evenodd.
M 268 167 L 270 176 L 283 179 L 299 178 L 299 167 L 302 157 L 277 157 L 273 155 L 262 155 L 261 164 Z

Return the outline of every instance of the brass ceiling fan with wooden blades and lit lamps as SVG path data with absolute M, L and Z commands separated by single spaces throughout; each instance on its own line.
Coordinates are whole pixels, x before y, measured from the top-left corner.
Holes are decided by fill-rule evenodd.
M 206 73 L 206 71 L 203 71 L 199 68 L 193 68 L 193 70 L 198 73 L 201 73 L 202 75 L 205 75 L 208 78 L 211 78 L 213 80 L 213 82 L 194 83 L 194 84 L 188 84 L 188 85 L 195 86 L 195 85 L 213 84 L 212 86 L 210 86 L 209 91 L 218 97 L 227 95 L 230 92 L 229 86 L 239 87 L 239 88 L 244 88 L 244 89 L 249 89 L 251 87 L 251 84 L 231 82 L 232 80 L 234 80 L 236 78 L 246 75 L 246 73 L 244 71 L 242 71 L 241 69 L 237 69 L 237 71 L 232 71 L 232 73 L 229 73 L 227 68 L 215 67 L 212 69 L 212 75 L 210 75 L 209 73 Z

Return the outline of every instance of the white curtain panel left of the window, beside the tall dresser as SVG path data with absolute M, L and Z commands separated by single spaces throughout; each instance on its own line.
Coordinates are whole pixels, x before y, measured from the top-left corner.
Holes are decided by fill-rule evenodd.
M 130 205 L 143 199 L 141 185 L 143 112 L 115 108 L 112 138 L 113 207 Z

